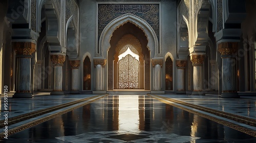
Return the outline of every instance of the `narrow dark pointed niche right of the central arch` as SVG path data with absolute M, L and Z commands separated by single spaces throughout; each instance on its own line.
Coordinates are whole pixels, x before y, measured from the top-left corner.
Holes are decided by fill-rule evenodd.
M 170 56 L 165 60 L 165 90 L 173 90 L 173 60 Z

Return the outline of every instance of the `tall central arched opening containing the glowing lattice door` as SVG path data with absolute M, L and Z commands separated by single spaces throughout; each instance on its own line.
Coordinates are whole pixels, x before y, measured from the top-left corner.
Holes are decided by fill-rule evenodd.
M 110 44 L 108 90 L 150 90 L 150 51 L 145 33 L 126 22 L 113 32 Z

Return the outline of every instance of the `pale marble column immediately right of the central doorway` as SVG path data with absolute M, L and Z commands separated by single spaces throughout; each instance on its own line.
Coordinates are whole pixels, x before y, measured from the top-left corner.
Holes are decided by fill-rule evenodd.
M 162 75 L 162 69 L 163 66 L 163 60 L 162 59 L 152 59 L 152 65 L 153 65 L 153 90 L 154 91 L 160 91 L 161 90 L 161 75 Z

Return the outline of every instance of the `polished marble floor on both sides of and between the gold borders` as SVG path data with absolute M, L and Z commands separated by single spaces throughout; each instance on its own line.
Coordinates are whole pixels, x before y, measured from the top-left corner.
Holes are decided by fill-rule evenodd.
M 11 99 L 13 106 L 10 112 L 16 112 L 12 113 L 12 116 L 17 116 L 93 96 L 38 96 L 29 100 Z M 214 96 L 160 96 L 240 114 L 252 119 L 256 116 L 256 98 L 253 97 L 237 100 Z M 23 106 L 22 103 L 26 105 Z M 3 114 L 3 102 L 1 107 Z M 20 110 L 23 107 L 25 110 Z M 15 124 L 12 126 L 18 127 Z M 250 129 L 256 131 L 255 127 Z M 9 135 L 8 139 L 1 141 L 17 142 L 17 140 L 19 142 L 256 142 L 256 137 L 165 104 L 156 100 L 154 95 L 119 95 L 104 96 L 46 122 Z

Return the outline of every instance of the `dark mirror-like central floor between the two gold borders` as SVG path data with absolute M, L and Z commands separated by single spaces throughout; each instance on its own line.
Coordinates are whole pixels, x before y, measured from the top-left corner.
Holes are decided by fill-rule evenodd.
M 5 142 L 255 142 L 256 138 L 149 96 L 107 96 Z

